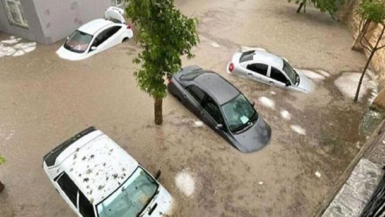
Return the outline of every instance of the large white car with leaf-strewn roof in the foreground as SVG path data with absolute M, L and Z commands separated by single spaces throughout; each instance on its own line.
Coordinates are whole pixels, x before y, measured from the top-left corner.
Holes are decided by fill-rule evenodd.
M 111 138 L 87 128 L 43 157 L 56 190 L 79 217 L 162 217 L 172 198 Z

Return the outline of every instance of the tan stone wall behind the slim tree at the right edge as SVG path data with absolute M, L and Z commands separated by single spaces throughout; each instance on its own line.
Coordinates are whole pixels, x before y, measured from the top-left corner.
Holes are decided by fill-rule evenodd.
M 358 36 L 358 32 L 359 32 L 358 29 L 359 29 L 360 19 L 356 15 L 355 11 L 360 2 L 361 0 L 346 0 L 345 5 L 339 11 L 339 14 L 338 14 L 339 20 L 341 20 L 346 24 L 347 28 L 350 30 L 354 38 Z M 379 34 L 381 34 L 380 27 L 374 30 L 370 38 L 370 41 L 372 44 L 375 43 Z M 385 39 L 383 43 L 385 43 Z M 365 54 L 366 56 L 369 56 L 369 53 L 367 51 L 365 51 Z M 373 70 L 376 72 L 380 89 L 383 89 L 385 87 L 385 48 L 376 52 L 375 56 L 372 59 L 371 66 Z

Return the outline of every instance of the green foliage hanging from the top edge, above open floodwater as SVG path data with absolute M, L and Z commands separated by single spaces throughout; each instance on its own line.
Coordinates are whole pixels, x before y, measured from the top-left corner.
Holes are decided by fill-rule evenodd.
M 288 1 L 292 2 L 293 0 Z M 304 8 L 304 13 L 306 13 L 306 5 L 311 3 L 322 13 L 328 12 L 333 19 L 335 18 L 337 10 L 344 3 L 344 1 L 345 0 L 294 0 L 295 3 L 299 4 L 297 13 L 301 12 L 302 8 Z

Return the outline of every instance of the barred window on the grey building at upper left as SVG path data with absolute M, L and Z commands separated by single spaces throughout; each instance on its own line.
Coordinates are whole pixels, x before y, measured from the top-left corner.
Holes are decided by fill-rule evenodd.
M 24 11 L 21 8 L 20 0 L 3 0 L 9 23 L 28 28 L 27 20 L 24 18 Z

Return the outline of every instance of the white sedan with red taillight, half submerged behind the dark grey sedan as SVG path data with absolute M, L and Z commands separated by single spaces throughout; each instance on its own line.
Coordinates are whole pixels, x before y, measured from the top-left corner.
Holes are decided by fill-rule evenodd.
M 309 93 L 314 84 L 304 74 L 295 71 L 282 57 L 262 50 L 237 52 L 228 64 L 227 72 L 291 90 Z

